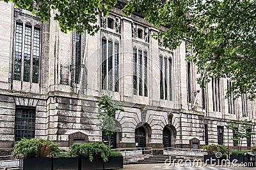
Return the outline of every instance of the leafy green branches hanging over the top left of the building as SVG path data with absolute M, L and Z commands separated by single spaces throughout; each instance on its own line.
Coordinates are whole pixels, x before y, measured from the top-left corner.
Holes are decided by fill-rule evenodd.
M 89 34 L 95 34 L 99 31 L 97 18 L 100 13 L 108 15 L 108 10 L 113 8 L 117 0 L 0 0 L 6 3 L 13 2 L 16 8 L 31 11 L 42 21 L 49 20 L 53 14 L 54 20 L 57 20 L 60 29 L 63 32 L 76 29 L 82 33 L 84 30 Z M 50 11 L 54 10 L 54 13 Z

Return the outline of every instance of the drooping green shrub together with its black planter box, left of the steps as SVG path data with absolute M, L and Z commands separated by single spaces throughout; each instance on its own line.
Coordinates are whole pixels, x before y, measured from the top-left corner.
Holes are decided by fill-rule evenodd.
M 81 170 L 103 169 L 110 152 L 109 146 L 103 142 L 75 143 L 70 146 L 70 156 L 79 157 Z

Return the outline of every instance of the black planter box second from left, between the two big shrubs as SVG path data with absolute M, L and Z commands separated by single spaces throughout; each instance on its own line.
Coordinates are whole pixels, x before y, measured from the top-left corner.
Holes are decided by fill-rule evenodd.
M 52 170 L 68 169 L 77 170 L 79 169 L 79 158 L 53 158 L 52 159 Z

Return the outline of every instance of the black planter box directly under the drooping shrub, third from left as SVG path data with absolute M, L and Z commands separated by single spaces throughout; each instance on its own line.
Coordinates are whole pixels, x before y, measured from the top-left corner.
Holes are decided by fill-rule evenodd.
M 93 161 L 91 162 L 88 157 L 80 157 L 81 161 L 81 170 L 95 170 L 95 169 L 103 169 L 104 161 L 101 157 L 93 157 Z

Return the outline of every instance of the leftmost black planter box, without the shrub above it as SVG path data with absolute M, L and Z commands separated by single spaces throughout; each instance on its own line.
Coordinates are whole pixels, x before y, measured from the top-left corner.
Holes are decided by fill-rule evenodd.
M 20 170 L 49 170 L 52 169 L 52 158 L 20 159 Z

